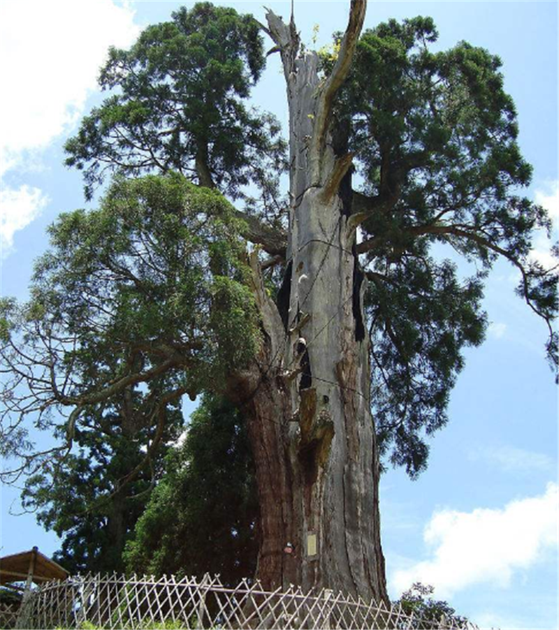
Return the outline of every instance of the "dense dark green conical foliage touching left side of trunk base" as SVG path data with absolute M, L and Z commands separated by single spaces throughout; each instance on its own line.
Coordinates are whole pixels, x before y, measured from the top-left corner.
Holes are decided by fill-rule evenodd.
M 237 585 L 256 569 L 257 514 L 242 415 L 205 395 L 183 444 L 166 456 L 165 474 L 126 545 L 126 567 L 156 576 L 219 573 Z

